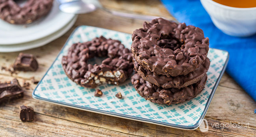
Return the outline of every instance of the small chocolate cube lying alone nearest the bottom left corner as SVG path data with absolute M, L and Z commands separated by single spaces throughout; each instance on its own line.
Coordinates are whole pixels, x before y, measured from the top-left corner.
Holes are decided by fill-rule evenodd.
M 21 121 L 33 121 L 34 110 L 30 106 L 20 106 L 20 119 Z

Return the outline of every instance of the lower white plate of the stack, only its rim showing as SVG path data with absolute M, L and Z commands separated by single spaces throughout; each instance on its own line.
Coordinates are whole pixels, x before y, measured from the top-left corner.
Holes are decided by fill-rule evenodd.
M 71 22 L 69 22 L 66 26 L 64 26 L 59 31 L 50 34 L 49 36 L 46 36 L 45 38 L 41 38 L 39 40 L 30 41 L 27 43 L 21 43 L 21 44 L 15 44 L 15 45 L 0 45 L 0 52 L 16 52 L 16 51 L 22 51 L 27 49 L 33 49 L 40 46 L 43 46 L 47 43 L 50 43 L 53 40 L 56 40 L 63 34 L 65 34 L 69 29 L 74 25 L 76 22 L 77 16 L 73 18 Z

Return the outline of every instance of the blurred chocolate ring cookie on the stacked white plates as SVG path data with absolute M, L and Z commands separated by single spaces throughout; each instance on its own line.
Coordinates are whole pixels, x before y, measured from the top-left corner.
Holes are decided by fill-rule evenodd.
M 53 0 L 28 0 L 20 7 L 14 0 L 0 0 L 0 18 L 11 24 L 28 24 L 45 16 Z

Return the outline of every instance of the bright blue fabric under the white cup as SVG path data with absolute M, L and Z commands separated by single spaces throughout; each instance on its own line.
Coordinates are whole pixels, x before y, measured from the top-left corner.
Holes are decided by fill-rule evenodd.
M 179 22 L 201 28 L 210 47 L 229 52 L 226 72 L 256 101 L 256 35 L 238 38 L 224 34 L 211 22 L 200 0 L 161 1 Z

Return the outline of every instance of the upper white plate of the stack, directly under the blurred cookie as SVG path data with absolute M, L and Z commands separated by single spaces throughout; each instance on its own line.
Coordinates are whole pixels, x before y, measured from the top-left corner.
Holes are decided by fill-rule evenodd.
M 31 24 L 15 25 L 0 20 L 0 45 L 13 45 L 41 39 L 63 28 L 74 16 L 74 14 L 61 12 L 58 0 L 54 0 L 50 13 Z

